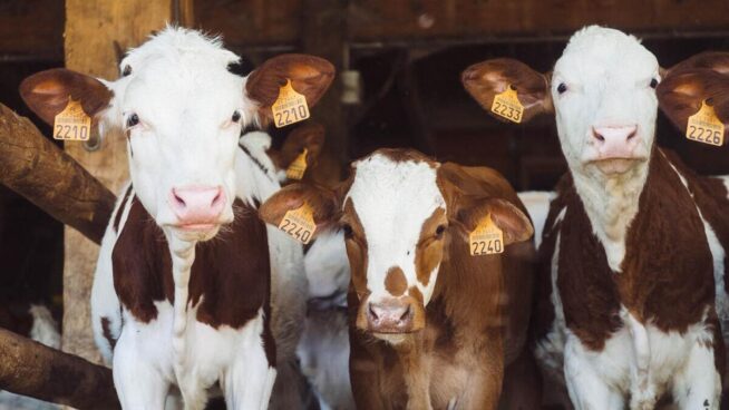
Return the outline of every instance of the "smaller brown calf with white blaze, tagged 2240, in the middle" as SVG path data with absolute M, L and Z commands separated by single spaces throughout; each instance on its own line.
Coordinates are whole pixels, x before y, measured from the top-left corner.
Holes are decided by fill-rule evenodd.
M 339 188 L 288 186 L 260 215 L 279 225 L 303 204 L 314 234 L 344 232 L 357 407 L 495 409 L 504 368 L 528 364 L 533 228 L 508 183 L 493 169 L 380 149 Z M 468 235 L 488 215 L 506 251 L 470 256 Z

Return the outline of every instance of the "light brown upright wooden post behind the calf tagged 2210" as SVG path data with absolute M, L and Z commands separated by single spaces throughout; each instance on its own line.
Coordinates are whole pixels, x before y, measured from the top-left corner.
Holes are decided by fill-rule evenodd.
M 118 76 L 116 48 L 142 43 L 153 30 L 173 21 L 174 0 L 66 0 L 66 67 L 106 79 Z M 115 47 L 115 45 L 117 45 Z M 125 138 L 107 135 L 96 152 L 66 143 L 76 158 L 115 194 L 128 178 Z M 98 362 L 90 322 L 90 291 L 98 246 L 66 227 L 62 348 Z

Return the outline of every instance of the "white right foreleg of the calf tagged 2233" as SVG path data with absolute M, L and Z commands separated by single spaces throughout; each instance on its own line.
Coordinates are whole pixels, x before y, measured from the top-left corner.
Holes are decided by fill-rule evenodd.
M 686 367 L 673 379 L 673 398 L 681 409 L 719 409 L 721 378 L 713 355 L 713 349 L 706 343 L 691 348 Z

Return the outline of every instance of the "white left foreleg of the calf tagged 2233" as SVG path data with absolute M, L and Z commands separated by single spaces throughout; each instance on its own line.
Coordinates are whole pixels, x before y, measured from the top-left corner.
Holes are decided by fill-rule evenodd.
M 564 377 L 575 410 L 622 410 L 624 398 L 612 389 L 585 357 L 580 341 L 567 339 L 564 349 Z

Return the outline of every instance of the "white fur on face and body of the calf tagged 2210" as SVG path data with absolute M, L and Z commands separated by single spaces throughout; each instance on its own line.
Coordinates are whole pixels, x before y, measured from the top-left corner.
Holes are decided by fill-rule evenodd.
M 91 295 L 94 333 L 107 362 L 114 362 L 115 385 L 126 409 L 161 409 L 171 385 L 178 387 L 186 409 L 200 409 L 206 389 L 217 380 L 229 408 L 264 409 L 269 403 L 275 370 L 269 368 L 263 352 L 262 316 L 240 330 L 213 330 L 195 320 L 196 308 L 186 303 L 194 247 L 216 231 L 204 235 L 178 232 L 166 203 L 172 187 L 222 186 L 229 198 L 221 218 L 225 223 L 233 218 L 234 197 L 260 203 L 280 188 L 275 178 L 236 147 L 241 125 L 254 120 L 256 105 L 245 97 L 245 79 L 226 69 L 235 60 L 237 56 L 217 40 L 167 28 L 122 61 L 123 68 L 132 67 L 130 76 L 107 82 L 115 97 L 101 129 L 106 134 L 122 128 L 133 113 L 142 120 L 129 130 L 133 195 L 165 233 L 175 281 L 175 303 L 158 302 L 158 316 L 148 324 L 136 321 L 120 309 L 114 291 L 111 251 L 118 234 L 107 228 Z M 230 121 L 235 110 L 242 114 L 240 124 Z M 259 162 L 271 162 L 265 156 L 270 139 L 244 137 L 240 143 Z M 117 204 L 111 221 L 118 212 L 123 212 L 122 232 L 129 206 L 122 209 Z M 301 246 L 274 227 L 269 226 L 268 234 L 271 322 L 276 359 L 283 362 L 295 360 L 307 279 Z M 101 318 L 109 320 L 111 334 L 118 338 L 114 352 L 104 338 Z

